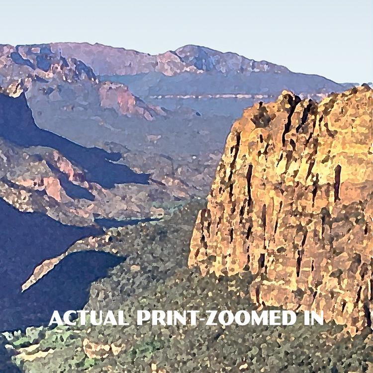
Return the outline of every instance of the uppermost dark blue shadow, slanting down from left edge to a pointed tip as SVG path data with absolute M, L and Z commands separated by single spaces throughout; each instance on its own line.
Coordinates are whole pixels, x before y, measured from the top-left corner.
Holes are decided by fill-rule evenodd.
M 99 148 L 85 148 L 64 137 L 39 128 L 22 93 L 13 98 L 0 93 L 0 136 L 21 146 L 46 146 L 61 152 L 80 166 L 88 182 L 111 188 L 114 184 L 148 184 L 147 174 L 136 174 L 125 165 L 115 164 L 120 153 L 108 153 Z

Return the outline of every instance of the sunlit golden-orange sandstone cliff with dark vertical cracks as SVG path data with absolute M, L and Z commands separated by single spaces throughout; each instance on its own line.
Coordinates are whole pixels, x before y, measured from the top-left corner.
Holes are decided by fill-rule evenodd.
M 351 334 L 371 325 L 372 90 L 320 103 L 283 92 L 228 136 L 189 266 L 256 274 L 258 304 L 324 311 Z

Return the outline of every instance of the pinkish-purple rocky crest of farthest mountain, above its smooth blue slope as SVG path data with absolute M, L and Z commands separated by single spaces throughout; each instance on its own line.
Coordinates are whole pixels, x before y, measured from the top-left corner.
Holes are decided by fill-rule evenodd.
M 136 75 L 156 71 L 172 76 L 185 71 L 193 73 L 212 70 L 222 73 L 250 73 L 271 69 L 276 72 L 289 71 L 284 66 L 267 61 L 255 61 L 236 53 L 224 53 L 196 45 L 185 45 L 175 51 L 157 55 L 98 43 L 43 44 L 43 46 L 47 45 L 54 52 L 60 51 L 64 56 L 76 56 L 91 66 L 97 74 Z M 118 63 L 119 59 L 121 63 Z

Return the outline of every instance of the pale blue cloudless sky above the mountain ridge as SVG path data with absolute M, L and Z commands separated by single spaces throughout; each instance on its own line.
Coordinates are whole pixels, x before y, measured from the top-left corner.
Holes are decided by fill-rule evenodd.
M 339 83 L 373 81 L 373 0 L 18 0 L 0 11 L 0 43 L 150 54 L 196 44 Z

